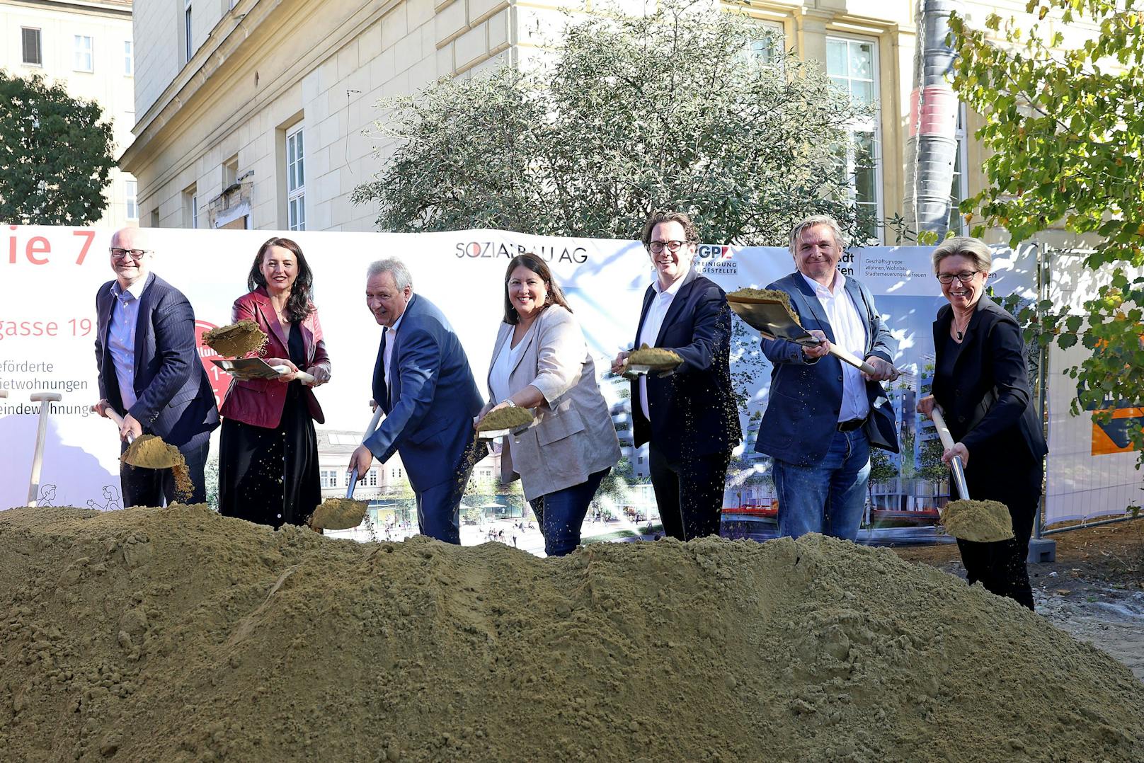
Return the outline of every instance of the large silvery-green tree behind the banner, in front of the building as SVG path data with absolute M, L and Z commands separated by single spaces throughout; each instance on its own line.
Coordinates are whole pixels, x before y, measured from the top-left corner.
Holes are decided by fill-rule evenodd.
M 836 158 L 858 108 L 815 63 L 750 55 L 766 34 L 686 0 L 570 24 L 547 64 L 383 101 L 396 153 L 353 200 L 395 231 L 631 238 L 662 207 L 708 241 L 781 243 L 818 212 L 857 230 Z

